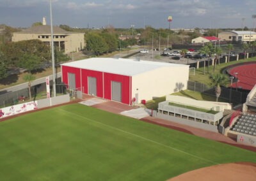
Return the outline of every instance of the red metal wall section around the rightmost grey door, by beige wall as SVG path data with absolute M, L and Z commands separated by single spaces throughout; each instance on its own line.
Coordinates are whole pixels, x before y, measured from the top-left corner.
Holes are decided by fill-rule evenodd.
M 111 81 L 122 83 L 122 103 L 130 105 L 131 103 L 131 86 L 130 76 L 116 75 L 113 73 L 104 73 L 104 98 L 111 100 Z

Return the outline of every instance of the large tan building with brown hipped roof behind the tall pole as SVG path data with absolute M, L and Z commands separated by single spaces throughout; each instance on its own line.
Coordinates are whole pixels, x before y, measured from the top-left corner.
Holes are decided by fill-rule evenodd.
M 46 25 L 45 18 L 43 19 L 43 25 L 36 25 L 24 31 L 15 32 L 12 36 L 12 41 L 35 39 L 51 45 L 51 26 Z M 65 31 L 60 27 L 53 27 L 53 40 L 54 46 L 65 54 L 79 52 L 84 49 L 84 33 L 74 33 Z

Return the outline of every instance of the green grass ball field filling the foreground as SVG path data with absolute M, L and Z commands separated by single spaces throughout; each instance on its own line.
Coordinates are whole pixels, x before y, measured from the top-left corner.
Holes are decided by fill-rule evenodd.
M 255 152 L 79 104 L 0 122 L 0 142 L 1 180 L 166 180 L 256 163 Z

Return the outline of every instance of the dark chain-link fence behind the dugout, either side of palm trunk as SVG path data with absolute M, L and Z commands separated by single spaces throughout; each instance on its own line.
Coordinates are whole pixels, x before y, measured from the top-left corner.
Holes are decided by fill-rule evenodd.
M 204 83 L 188 81 L 188 90 L 216 96 L 215 87 L 210 87 Z M 239 105 L 246 102 L 248 94 L 248 91 L 221 87 L 220 98 L 226 99 L 228 103 L 232 103 L 233 105 Z

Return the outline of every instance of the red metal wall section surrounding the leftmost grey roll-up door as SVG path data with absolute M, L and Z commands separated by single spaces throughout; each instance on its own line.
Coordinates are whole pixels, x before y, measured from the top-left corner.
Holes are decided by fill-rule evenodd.
M 76 88 L 81 87 L 81 76 L 79 68 L 72 68 L 68 66 L 62 66 L 62 81 L 68 85 L 68 73 L 74 73 L 76 75 Z

